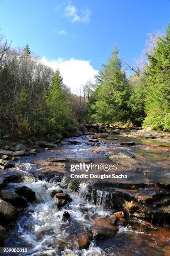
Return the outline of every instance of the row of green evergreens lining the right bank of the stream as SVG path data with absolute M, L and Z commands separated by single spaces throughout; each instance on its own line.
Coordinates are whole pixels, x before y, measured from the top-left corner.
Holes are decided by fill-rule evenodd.
M 170 131 L 170 24 L 134 68 L 121 60 L 117 47 L 102 64 L 92 85 L 90 118 L 97 122 L 132 122 Z M 134 74 L 127 78 L 125 69 Z

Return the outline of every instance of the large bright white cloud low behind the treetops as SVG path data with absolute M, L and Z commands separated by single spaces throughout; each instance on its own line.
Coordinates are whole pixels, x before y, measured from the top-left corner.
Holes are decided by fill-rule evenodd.
M 95 70 L 89 63 L 89 61 L 70 59 L 63 60 L 58 58 L 57 60 L 48 61 L 45 57 L 41 61 L 47 66 L 51 67 L 53 70 L 60 69 L 60 73 L 63 77 L 63 82 L 71 87 L 72 92 L 76 93 L 80 89 L 81 85 L 85 84 L 87 80 L 94 81 L 94 75 L 97 74 Z

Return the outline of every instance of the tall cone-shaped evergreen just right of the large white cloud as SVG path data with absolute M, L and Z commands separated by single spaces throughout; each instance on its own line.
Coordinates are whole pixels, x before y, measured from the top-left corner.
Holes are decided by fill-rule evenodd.
M 91 119 L 101 122 L 128 120 L 131 88 L 125 71 L 122 71 L 117 48 L 112 51 L 107 64 L 102 64 L 95 78 L 96 90 L 92 95 Z

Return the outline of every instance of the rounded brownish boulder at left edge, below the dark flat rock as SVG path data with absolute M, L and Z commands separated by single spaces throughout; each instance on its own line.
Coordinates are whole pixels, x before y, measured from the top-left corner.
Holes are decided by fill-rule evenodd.
M 5 202 L 4 200 L 0 199 L 0 215 L 5 220 L 16 220 L 18 218 L 18 212 L 13 205 L 9 202 Z

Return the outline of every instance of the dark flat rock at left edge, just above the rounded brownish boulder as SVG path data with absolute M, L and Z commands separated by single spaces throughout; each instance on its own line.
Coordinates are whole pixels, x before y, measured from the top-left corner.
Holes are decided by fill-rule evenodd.
M 20 197 L 18 194 L 15 192 L 10 192 L 8 190 L 0 190 L 0 197 L 6 201 L 9 202 L 11 205 L 15 206 L 21 206 L 24 207 L 27 205 L 27 201 L 25 198 Z

